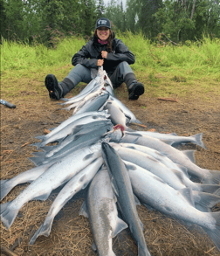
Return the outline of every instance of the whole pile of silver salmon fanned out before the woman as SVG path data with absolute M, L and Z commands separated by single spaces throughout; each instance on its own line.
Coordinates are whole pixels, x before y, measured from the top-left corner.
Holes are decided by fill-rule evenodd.
M 49 236 L 58 211 L 88 186 L 79 214 L 90 220 L 98 255 L 115 255 L 112 239 L 127 228 L 138 255 L 151 255 L 137 204 L 199 225 L 220 250 L 220 211 L 211 211 L 220 202 L 220 171 L 197 166 L 194 150 L 175 148 L 190 142 L 205 149 L 203 134 L 178 136 L 129 128 L 129 123 L 141 121 L 114 97 L 102 67 L 78 95 L 61 100 L 66 110 L 74 108 L 73 114 L 49 134 L 37 137 L 40 142 L 33 146 L 43 151 L 30 157 L 36 167 L 1 180 L 1 200 L 18 184 L 30 183 L 14 200 L 1 204 L 7 230 L 24 204 L 46 200 L 52 190 L 63 186 L 32 236 L 33 245 L 38 236 Z

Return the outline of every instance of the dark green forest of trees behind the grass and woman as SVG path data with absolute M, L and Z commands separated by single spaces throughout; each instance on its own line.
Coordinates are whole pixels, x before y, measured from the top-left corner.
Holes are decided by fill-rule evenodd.
M 63 38 L 88 40 L 95 21 L 107 17 L 113 31 L 140 33 L 160 44 L 198 44 L 220 38 L 220 0 L 0 0 L 1 42 L 56 48 Z

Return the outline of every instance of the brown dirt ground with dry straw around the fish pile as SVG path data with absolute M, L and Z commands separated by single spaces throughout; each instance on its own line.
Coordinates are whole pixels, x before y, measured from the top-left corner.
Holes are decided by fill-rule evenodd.
M 45 90 L 42 85 L 42 90 Z M 127 100 L 127 89 L 117 89 L 122 101 L 147 126 L 157 132 L 175 132 L 177 135 L 203 133 L 207 149 L 189 144 L 182 149 L 196 150 L 196 164 L 209 170 L 220 170 L 220 95 L 211 95 L 207 102 L 196 99 L 178 99 L 178 102 L 162 101 L 144 95 L 139 100 Z M 78 91 L 74 93 L 79 93 Z M 67 94 L 72 96 L 72 92 Z M 6 99 L 5 99 L 6 100 Z M 8 99 L 7 99 L 8 100 Z M 14 99 L 15 109 L 1 105 L 1 179 L 16 176 L 34 165 L 28 160 L 37 151 L 31 143 L 38 142 L 37 135 L 43 135 L 45 128 L 58 126 L 71 114 L 58 109 L 57 102 L 49 100 L 48 93 L 39 95 L 34 89 L 23 91 Z M 134 129 L 141 129 L 132 126 Z M 3 199 L 8 202 L 20 193 L 27 184 L 19 185 Z M 9 231 L 1 223 L 1 246 L 10 248 L 17 255 L 96 255 L 93 253 L 93 236 L 88 219 L 79 216 L 83 194 L 67 203 L 55 218 L 50 236 L 39 237 L 33 246 L 28 246 L 34 232 L 38 230 L 49 211 L 52 193 L 45 202 L 31 201 L 19 211 Z M 220 204 L 213 208 L 220 211 Z M 148 250 L 152 255 L 220 255 L 206 234 L 196 225 L 185 225 L 155 210 L 138 206 L 138 213 L 144 225 Z M 137 247 L 127 230 L 113 239 L 116 255 L 137 255 Z M 1 254 L 2 255 L 2 254 Z

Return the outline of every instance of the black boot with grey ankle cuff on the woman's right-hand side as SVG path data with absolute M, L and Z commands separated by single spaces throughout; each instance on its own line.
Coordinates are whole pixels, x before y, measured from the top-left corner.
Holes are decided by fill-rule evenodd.
M 127 85 L 129 100 L 137 100 L 144 93 L 144 86 L 136 80 L 134 73 L 127 73 L 125 83 Z

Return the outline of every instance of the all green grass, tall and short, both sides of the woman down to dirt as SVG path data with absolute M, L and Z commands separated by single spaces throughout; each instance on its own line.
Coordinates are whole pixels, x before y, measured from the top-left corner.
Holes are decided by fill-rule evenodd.
M 135 63 L 131 67 L 137 79 L 145 85 L 146 95 L 187 97 L 209 92 L 220 95 L 219 39 L 203 38 L 199 47 L 190 41 L 186 45 L 164 47 L 152 44 L 141 33 L 134 35 L 127 31 L 125 34 L 117 33 L 116 38 L 120 38 L 134 53 Z M 12 96 L 12 90 L 20 91 L 22 80 L 27 79 L 37 80 L 34 86 L 40 92 L 47 73 L 56 74 L 58 80 L 64 79 L 72 69 L 72 56 L 83 45 L 86 45 L 84 39 L 74 37 L 65 38 L 56 50 L 47 49 L 44 45 L 30 46 L 3 40 L 2 92 Z M 11 84 L 9 81 L 16 82 Z M 24 85 L 23 89 L 27 88 Z

